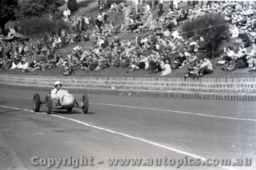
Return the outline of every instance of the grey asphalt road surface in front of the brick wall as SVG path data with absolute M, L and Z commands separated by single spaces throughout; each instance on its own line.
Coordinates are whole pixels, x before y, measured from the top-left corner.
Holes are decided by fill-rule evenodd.
M 67 158 L 58 169 L 75 169 L 81 156 L 84 165 L 76 169 L 177 169 L 163 165 L 165 158 L 176 163 L 183 158 L 179 169 L 256 169 L 253 102 L 89 94 L 88 114 L 75 108 L 47 115 L 44 107 L 32 111 L 34 93 L 44 98 L 49 92 L 0 89 L 0 169 L 49 169 L 33 165 L 31 158 L 39 164 L 44 158 Z M 146 165 L 110 166 L 109 158 L 143 158 Z M 151 158 L 162 158 L 162 165 L 151 165 Z M 251 165 L 185 165 L 188 159 L 221 158 L 231 163 L 250 158 Z

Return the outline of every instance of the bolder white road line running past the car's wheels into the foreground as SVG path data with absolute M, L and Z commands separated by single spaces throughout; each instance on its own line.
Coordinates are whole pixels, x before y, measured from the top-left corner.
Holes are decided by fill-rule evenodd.
M 27 110 L 27 109 L 19 109 L 19 108 L 8 107 L 8 106 L 3 106 L 3 105 L 0 105 L 0 107 L 12 108 L 12 109 L 17 109 L 17 110 L 24 110 L 24 111 L 28 111 L 28 112 L 34 113 L 32 110 Z M 98 126 L 90 125 L 88 123 L 84 123 L 84 122 L 81 122 L 80 120 L 76 120 L 76 119 L 73 119 L 73 118 L 62 117 L 62 116 L 54 115 L 54 114 L 50 114 L 50 115 L 54 116 L 54 117 L 62 118 L 62 119 L 71 120 L 73 122 L 76 122 L 76 123 L 79 123 L 79 124 L 82 124 L 82 125 L 85 125 L 85 126 L 88 126 L 88 127 L 100 129 L 100 130 L 103 130 L 103 131 L 107 131 L 107 132 L 110 132 L 110 133 L 113 133 L 113 134 L 118 134 L 118 135 L 121 135 L 121 136 L 124 136 L 124 137 L 127 137 L 127 138 L 140 140 L 140 141 L 146 142 L 148 144 L 155 145 L 156 147 L 164 148 L 164 149 L 169 150 L 169 151 L 173 151 L 173 152 L 180 153 L 180 154 L 183 154 L 183 155 L 187 155 L 187 156 L 190 156 L 190 157 L 193 157 L 193 158 L 201 159 L 202 161 L 206 161 L 207 160 L 204 157 L 201 157 L 201 156 L 198 156 L 198 155 L 195 155 L 195 154 L 191 154 L 191 153 L 188 153 L 188 152 L 184 152 L 184 151 L 172 148 L 172 147 L 167 147 L 166 145 L 159 144 L 159 143 L 156 143 L 156 142 L 153 142 L 153 141 L 150 141 L 150 140 L 146 140 L 146 139 L 142 139 L 142 138 L 139 138 L 139 137 L 134 137 L 134 136 L 131 136 L 131 135 L 127 135 L 125 133 L 120 133 L 120 132 L 116 132 L 116 131 L 113 131 L 113 130 L 110 130 L 110 129 L 106 129 L 106 128 L 101 128 L 101 127 L 98 127 Z M 236 170 L 236 168 L 232 168 L 232 167 L 229 167 L 229 166 L 223 166 L 223 165 L 218 165 L 218 166 L 226 168 L 226 169 Z

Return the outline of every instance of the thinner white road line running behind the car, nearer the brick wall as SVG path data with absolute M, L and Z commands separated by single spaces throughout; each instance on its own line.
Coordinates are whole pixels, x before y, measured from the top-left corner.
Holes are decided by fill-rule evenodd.
M 2 95 L 2 96 L 5 96 L 7 98 L 24 98 L 24 97 L 8 96 L 8 95 Z M 33 99 L 33 98 L 24 98 L 24 99 Z M 181 113 L 181 114 L 192 114 L 192 115 L 216 117 L 216 118 L 227 118 L 227 119 L 234 119 L 234 120 L 247 120 L 247 121 L 254 121 L 254 122 L 256 122 L 256 119 L 250 119 L 250 118 L 237 118 L 237 117 L 217 116 L 217 115 L 211 115 L 211 114 L 201 114 L 201 113 L 193 113 L 193 112 L 185 112 L 185 111 L 177 111 L 177 110 L 166 110 L 166 109 L 157 109 L 157 108 L 125 106 L 125 105 L 115 105 L 115 104 L 107 104 L 107 103 L 91 103 L 90 102 L 89 104 L 117 106 L 117 107 L 126 107 L 126 108 L 134 108 L 134 109 L 144 109 L 144 110 L 156 110 L 156 111 L 174 112 L 174 113 Z

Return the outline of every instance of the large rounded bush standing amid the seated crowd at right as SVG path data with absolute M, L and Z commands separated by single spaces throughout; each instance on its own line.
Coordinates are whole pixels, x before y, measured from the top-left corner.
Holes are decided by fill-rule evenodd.
M 184 22 L 182 26 L 183 37 L 199 40 L 199 37 L 202 36 L 207 43 L 207 51 L 212 52 L 213 44 L 214 51 L 216 51 L 228 30 L 225 23 L 226 20 L 221 14 L 206 13 L 192 21 Z

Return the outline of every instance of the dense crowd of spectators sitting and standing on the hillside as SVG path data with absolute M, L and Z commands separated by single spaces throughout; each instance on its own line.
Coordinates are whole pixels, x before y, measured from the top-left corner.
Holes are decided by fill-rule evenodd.
M 183 2 L 184 3 L 184 2 Z M 70 26 L 67 30 L 42 38 L 23 41 L 7 41 L 0 37 L 0 69 L 23 69 L 25 72 L 63 67 L 69 76 L 80 67 L 87 71 L 100 71 L 108 67 L 129 68 L 126 72 L 146 69 L 148 74 L 161 72 L 171 74 L 174 69 L 186 67 L 185 77 L 201 77 L 214 72 L 206 53 L 204 38 L 184 40 L 177 27 L 185 20 L 193 20 L 205 13 L 220 13 L 229 24 L 225 33 L 233 46 L 225 46 L 222 60 L 224 71 L 252 67 L 256 71 L 256 23 L 254 2 L 188 2 L 186 8 L 177 1 L 159 0 L 157 6 L 148 1 L 133 0 L 131 5 L 113 3 L 110 9 L 100 7 L 96 16 L 80 15 L 70 17 L 70 11 L 63 11 L 63 19 Z M 157 15 L 154 16 L 154 9 Z M 114 19 L 109 20 L 110 13 Z M 121 23 L 118 14 L 123 14 Z M 119 34 L 136 34 L 136 37 L 122 40 Z M 143 33 L 147 33 L 146 35 Z M 7 37 L 16 34 L 10 29 Z M 109 40 L 111 39 L 111 40 Z M 92 47 L 81 47 L 80 43 L 92 41 Z M 56 49 L 75 44 L 66 56 L 55 54 Z M 251 50 L 252 49 L 252 50 Z M 236 51 L 236 52 L 235 52 Z

